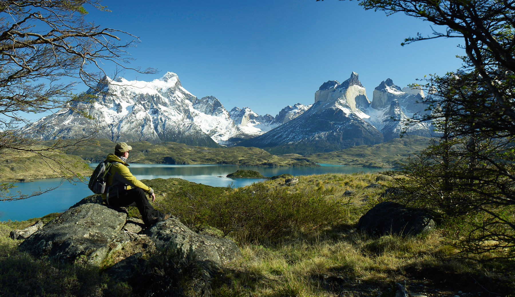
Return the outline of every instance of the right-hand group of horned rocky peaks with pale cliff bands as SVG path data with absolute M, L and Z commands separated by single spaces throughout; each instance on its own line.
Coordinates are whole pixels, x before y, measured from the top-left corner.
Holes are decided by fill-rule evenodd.
M 358 74 L 342 82 L 327 81 L 315 92 L 315 103 L 295 119 L 238 145 L 256 146 L 275 154 L 310 154 L 382 143 L 400 134 L 438 136 L 427 122 L 413 122 L 427 113 L 421 88 L 403 88 L 387 79 L 370 101 Z

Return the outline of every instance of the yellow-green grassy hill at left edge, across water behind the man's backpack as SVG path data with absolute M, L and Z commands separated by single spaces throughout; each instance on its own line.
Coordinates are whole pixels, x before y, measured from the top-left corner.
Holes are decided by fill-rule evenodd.
M 45 152 L 43 157 L 33 153 L 4 154 L 0 159 L 0 181 L 62 177 L 71 174 L 68 170 L 84 176 L 93 172 L 79 156 L 58 152 Z

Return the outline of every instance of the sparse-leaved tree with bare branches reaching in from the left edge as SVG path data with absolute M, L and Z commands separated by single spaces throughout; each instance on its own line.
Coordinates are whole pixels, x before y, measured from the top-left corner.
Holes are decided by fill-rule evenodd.
M 74 108 L 73 102 L 91 100 L 87 94 L 73 92 L 76 80 L 95 88 L 106 76 L 102 65 L 155 72 L 151 68 L 128 68 L 133 59 L 127 49 L 139 39 L 87 22 L 85 6 L 108 11 L 100 0 L 0 0 L 0 160 L 37 155 L 67 179 L 83 179 L 77 174 L 77 164 L 56 159 L 48 152 L 74 149 L 92 135 L 58 141 L 49 147 L 37 146 L 38 140 L 15 129 L 28 123 L 23 114 Z M 130 41 L 121 42 L 121 35 Z M 11 188 L 10 183 L 0 185 L 0 200 L 31 196 L 8 195 Z

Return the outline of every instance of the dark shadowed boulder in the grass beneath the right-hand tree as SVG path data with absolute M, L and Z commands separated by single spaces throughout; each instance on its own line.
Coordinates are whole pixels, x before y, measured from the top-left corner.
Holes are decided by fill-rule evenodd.
M 359 218 L 356 229 L 370 235 L 415 235 L 435 228 L 434 217 L 424 209 L 381 202 Z

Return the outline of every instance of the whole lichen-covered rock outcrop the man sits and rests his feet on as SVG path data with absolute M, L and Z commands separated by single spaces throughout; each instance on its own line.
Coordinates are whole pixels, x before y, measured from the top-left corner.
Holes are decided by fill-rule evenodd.
M 162 268 L 169 268 L 173 262 L 175 268 L 169 272 L 191 273 L 186 276 L 191 280 L 191 288 L 204 296 L 210 294 L 222 266 L 242 258 L 238 246 L 216 228 L 204 227 L 195 233 L 178 218 L 171 217 L 142 231 L 141 219 L 127 218 L 124 209 L 89 203 L 95 201 L 98 197 L 94 195 L 86 197 L 48 224 L 43 226 L 39 222 L 32 226 L 37 230 L 20 244 L 20 251 L 61 263 L 99 265 L 108 253 L 133 241 L 145 253 L 130 255 L 111 267 L 107 273 L 113 280 L 137 283 L 141 277 L 159 278 L 166 274 Z M 187 267 L 182 269 L 184 265 Z M 172 282 L 164 284 L 165 287 L 177 285 L 173 275 L 162 280 Z

